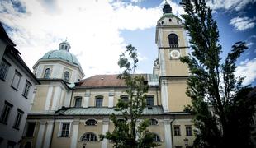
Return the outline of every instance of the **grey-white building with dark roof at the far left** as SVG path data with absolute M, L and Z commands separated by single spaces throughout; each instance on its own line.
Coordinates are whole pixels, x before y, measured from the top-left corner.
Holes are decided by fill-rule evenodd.
M 39 81 L 0 23 L 0 147 L 19 147 Z

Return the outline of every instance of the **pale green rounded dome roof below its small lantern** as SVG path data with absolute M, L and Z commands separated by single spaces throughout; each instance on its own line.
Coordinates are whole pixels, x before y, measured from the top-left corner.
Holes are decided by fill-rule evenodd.
M 41 59 L 62 59 L 81 67 L 78 58 L 67 50 L 51 50 L 45 53 Z

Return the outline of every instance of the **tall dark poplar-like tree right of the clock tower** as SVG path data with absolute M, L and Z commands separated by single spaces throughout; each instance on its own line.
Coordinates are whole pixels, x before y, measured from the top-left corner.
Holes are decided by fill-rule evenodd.
M 195 147 L 251 147 L 250 131 L 255 112 L 255 96 L 247 97 L 249 86 L 235 77 L 235 62 L 247 49 L 235 43 L 221 63 L 219 31 L 211 9 L 204 0 L 183 1 L 184 28 L 190 35 L 192 53 L 181 58 L 191 75 L 187 95 L 192 105 L 185 108 L 194 115 Z

